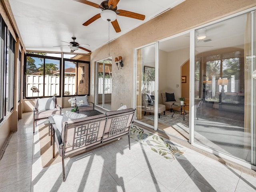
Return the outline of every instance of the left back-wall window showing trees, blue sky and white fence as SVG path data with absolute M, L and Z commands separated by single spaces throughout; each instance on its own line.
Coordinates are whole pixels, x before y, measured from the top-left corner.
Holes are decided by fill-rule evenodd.
M 61 58 L 46 53 L 26 55 L 25 97 L 60 96 Z

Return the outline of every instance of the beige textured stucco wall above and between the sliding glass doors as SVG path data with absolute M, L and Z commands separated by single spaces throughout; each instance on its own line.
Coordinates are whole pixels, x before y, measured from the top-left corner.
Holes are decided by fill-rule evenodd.
M 112 110 L 118 108 L 121 102 L 128 107 L 132 107 L 134 48 L 253 6 L 256 6 L 255 0 L 187 0 L 110 42 L 110 56 L 113 58 L 122 56 L 124 59 L 124 67 L 121 70 L 115 67 L 112 68 Z M 92 52 L 92 82 L 94 81 L 94 63 L 108 56 L 108 45 Z M 175 77 L 174 85 L 176 86 L 176 84 L 180 84 L 180 78 Z M 94 84 L 92 84 L 91 90 L 94 90 L 94 87 Z M 174 92 L 177 96 L 180 95 L 180 87 L 178 90 L 175 89 Z M 94 98 L 93 91 L 91 96 Z

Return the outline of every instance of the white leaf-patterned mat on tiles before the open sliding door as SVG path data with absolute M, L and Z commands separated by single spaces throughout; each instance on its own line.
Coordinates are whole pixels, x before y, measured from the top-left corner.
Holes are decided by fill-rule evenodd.
M 170 161 L 186 151 L 186 148 L 138 126 L 131 127 L 130 137 Z

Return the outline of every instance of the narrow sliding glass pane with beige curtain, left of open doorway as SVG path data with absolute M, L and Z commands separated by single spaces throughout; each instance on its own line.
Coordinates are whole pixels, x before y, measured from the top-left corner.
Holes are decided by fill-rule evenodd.
M 156 44 L 136 50 L 135 120 L 154 128 L 158 116 L 156 89 Z

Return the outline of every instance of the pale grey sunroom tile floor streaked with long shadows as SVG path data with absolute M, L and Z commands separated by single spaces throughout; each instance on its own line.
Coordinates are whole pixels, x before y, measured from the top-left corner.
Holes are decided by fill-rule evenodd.
M 45 122 L 41 120 L 38 124 Z M 252 192 L 256 178 L 187 149 L 174 161 L 122 138 L 42 168 L 32 113 L 23 115 L 0 160 L 0 192 Z

